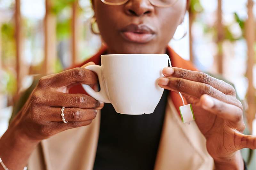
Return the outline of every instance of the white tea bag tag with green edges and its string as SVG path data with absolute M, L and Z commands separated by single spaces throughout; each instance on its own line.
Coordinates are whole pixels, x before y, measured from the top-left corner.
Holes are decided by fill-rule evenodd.
M 169 57 L 168 57 L 168 61 L 170 63 L 170 66 L 172 66 L 171 65 L 171 60 L 170 60 Z M 180 92 L 179 92 L 179 95 L 180 95 L 180 98 L 181 98 L 182 103 L 183 103 L 183 106 L 179 107 L 181 120 L 182 120 L 183 123 L 187 123 L 189 125 L 190 121 L 195 120 L 195 116 L 194 116 L 194 112 L 193 112 L 193 109 L 192 109 L 192 105 L 191 104 L 185 105 L 184 99 L 183 99 L 183 97 L 182 97 Z

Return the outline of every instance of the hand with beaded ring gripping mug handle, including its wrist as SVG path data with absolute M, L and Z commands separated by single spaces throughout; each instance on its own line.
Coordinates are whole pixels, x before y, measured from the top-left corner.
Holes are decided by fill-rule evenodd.
M 78 83 L 93 86 L 97 82 L 97 75 L 84 68 L 42 77 L 0 139 L 0 157 L 4 164 L 10 169 L 22 169 L 41 140 L 89 125 L 104 103 L 85 94 L 68 94 L 68 90 Z M 62 107 L 68 123 L 62 121 Z

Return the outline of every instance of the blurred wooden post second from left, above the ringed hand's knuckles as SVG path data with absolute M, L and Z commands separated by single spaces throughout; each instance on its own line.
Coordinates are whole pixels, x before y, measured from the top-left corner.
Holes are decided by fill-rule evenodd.
M 56 16 L 51 12 L 51 0 L 45 0 L 44 17 L 44 74 L 55 72 L 56 50 Z

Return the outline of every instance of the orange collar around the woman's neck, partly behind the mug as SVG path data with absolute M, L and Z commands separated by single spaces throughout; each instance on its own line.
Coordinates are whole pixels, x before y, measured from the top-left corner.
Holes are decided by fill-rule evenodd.
M 84 61 L 83 63 L 80 63 L 76 66 L 72 66 L 71 68 L 75 68 L 75 67 L 81 67 L 84 64 L 92 61 L 97 65 L 100 65 L 100 56 L 102 54 L 104 54 L 107 50 L 106 46 L 102 46 L 100 48 L 100 50 L 91 58 L 89 58 L 88 60 Z M 167 47 L 167 54 L 169 55 L 171 62 L 172 62 L 172 66 L 173 67 L 179 67 L 179 68 L 183 68 L 183 69 L 187 69 L 187 70 L 192 70 L 192 71 L 198 71 L 191 62 L 181 58 L 176 52 L 174 52 L 174 50 L 172 50 L 171 47 Z M 83 87 L 81 86 L 81 84 L 73 86 L 71 89 L 69 89 L 69 93 L 83 93 L 86 94 L 86 92 L 84 91 Z M 179 106 L 182 105 L 182 101 L 180 99 L 180 96 L 178 93 L 174 92 L 174 91 L 170 91 L 170 97 L 172 98 L 172 102 L 175 106 L 175 108 L 177 109 L 177 112 L 179 113 Z M 186 100 L 185 100 L 185 104 L 187 104 Z

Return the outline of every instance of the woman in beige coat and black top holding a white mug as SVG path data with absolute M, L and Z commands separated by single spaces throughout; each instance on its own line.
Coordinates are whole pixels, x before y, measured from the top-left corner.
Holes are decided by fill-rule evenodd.
M 14 170 L 27 164 L 38 170 L 244 169 L 240 149 L 254 149 L 256 138 L 242 134 L 243 107 L 234 88 L 196 72 L 168 47 L 188 0 L 92 4 L 107 47 L 81 68 L 39 80 L 0 139 L 4 164 Z M 120 53 L 167 53 L 176 66 L 163 69 L 158 84 L 166 90 L 154 113 L 117 114 L 111 104 L 104 106 L 81 88 L 80 83 L 97 84 L 97 76 L 84 64 L 100 64 L 101 54 Z M 193 106 L 196 121 L 191 125 L 178 117 L 178 91 Z M 60 117 L 62 107 L 67 123 Z

